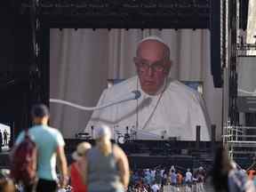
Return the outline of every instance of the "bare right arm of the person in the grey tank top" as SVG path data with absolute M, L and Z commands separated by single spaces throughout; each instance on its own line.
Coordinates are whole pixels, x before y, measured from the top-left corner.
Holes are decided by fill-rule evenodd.
M 121 148 L 115 146 L 114 150 L 115 150 L 114 153 L 116 155 L 118 170 L 120 172 L 121 182 L 123 183 L 124 188 L 128 188 L 129 179 L 130 179 L 128 158 L 124 154 L 124 151 Z

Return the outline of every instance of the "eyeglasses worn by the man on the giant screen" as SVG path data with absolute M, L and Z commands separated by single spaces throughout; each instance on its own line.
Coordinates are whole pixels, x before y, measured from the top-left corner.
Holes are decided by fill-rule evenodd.
M 166 68 L 164 66 L 164 60 L 158 60 L 154 63 L 149 63 L 147 60 L 141 60 L 139 58 L 134 58 L 134 62 L 136 67 L 140 70 L 140 72 L 144 73 L 151 68 L 154 72 L 163 72 Z

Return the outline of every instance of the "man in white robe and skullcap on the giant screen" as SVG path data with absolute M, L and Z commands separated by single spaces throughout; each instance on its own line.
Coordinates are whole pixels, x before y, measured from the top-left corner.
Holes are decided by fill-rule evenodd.
M 85 132 L 107 124 L 114 139 L 116 132 L 125 133 L 128 126 L 138 140 L 196 140 L 196 125 L 200 125 L 201 140 L 210 140 L 210 121 L 201 95 L 169 77 L 172 61 L 168 45 L 156 36 L 142 39 L 133 61 L 138 76 L 104 90 L 98 106 L 134 90 L 140 91 L 140 98 L 95 110 Z

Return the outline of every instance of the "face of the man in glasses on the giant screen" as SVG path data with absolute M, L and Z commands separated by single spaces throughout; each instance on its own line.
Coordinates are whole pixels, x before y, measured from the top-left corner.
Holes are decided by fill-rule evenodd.
M 167 46 L 156 40 L 139 44 L 137 56 L 133 60 L 144 92 L 156 94 L 164 85 L 171 68 L 169 54 Z

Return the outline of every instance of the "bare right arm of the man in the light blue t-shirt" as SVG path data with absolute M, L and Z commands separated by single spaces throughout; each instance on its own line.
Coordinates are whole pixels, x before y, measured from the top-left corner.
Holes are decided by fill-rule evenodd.
M 64 152 L 64 147 L 57 147 L 57 158 L 58 158 L 58 167 L 60 169 L 60 188 L 64 188 L 68 184 L 68 164 Z

